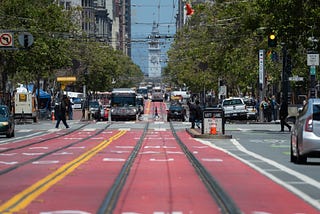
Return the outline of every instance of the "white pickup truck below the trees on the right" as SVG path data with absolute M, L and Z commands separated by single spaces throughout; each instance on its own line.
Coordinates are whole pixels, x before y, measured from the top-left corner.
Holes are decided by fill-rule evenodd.
M 226 119 L 247 119 L 247 106 L 240 97 L 224 99 L 222 108 Z

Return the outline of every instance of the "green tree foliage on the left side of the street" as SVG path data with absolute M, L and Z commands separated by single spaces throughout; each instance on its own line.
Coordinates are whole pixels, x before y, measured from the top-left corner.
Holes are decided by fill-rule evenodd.
M 3 69 L 14 83 L 41 78 L 53 84 L 58 76 L 75 75 L 79 90 L 87 84 L 88 91 L 107 91 L 112 89 L 113 79 L 119 86 L 128 87 L 135 84 L 134 80 L 142 79 L 141 70 L 131 59 L 107 44 L 88 41 L 86 37 L 71 38 L 73 32 L 79 32 L 79 26 L 72 23 L 72 12 L 52 0 L 1 0 L 0 20 L 6 21 L 0 22 L 0 29 L 13 30 L 15 37 L 21 32 L 34 37 L 28 49 L 16 42 L 19 50 L 0 50 L 0 59 L 7 62 Z M 77 68 L 73 68 L 74 61 L 79 63 Z

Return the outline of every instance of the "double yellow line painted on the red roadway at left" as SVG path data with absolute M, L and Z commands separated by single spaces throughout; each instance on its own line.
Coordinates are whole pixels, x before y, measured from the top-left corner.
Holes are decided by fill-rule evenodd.
M 0 213 L 14 213 L 24 209 L 40 194 L 47 191 L 51 186 L 53 186 L 58 181 L 60 181 L 61 179 L 66 177 L 68 174 L 73 172 L 81 164 L 90 160 L 99 151 L 107 147 L 112 141 L 118 139 L 125 133 L 126 131 L 118 132 L 117 134 L 112 136 L 109 140 L 103 141 L 102 143 L 92 148 L 88 152 L 82 154 L 81 156 L 74 159 L 73 161 L 66 163 L 65 165 L 63 165 L 62 167 L 60 167 L 59 169 L 57 169 L 55 172 L 51 173 L 47 177 L 39 180 L 32 186 L 16 194 L 7 202 L 0 205 Z

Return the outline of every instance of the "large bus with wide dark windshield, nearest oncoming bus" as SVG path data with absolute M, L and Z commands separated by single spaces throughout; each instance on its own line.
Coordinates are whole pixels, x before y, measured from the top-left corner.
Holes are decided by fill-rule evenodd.
M 111 92 L 110 117 L 115 120 L 136 120 L 139 114 L 137 94 L 130 88 L 115 88 Z

